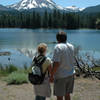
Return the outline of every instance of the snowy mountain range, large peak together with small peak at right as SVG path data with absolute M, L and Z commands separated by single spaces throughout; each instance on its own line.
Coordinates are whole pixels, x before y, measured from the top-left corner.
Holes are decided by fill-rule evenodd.
M 8 6 L 9 8 L 13 8 L 16 10 L 30 10 L 30 9 L 58 9 L 63 10 L 65 12 L 79 12 L 84 10 L 83 8 L 78 8 L 76 6 L 70 6 L 70 7 L 62 7 L 57 5 L 52 0 L 21 0 L 20 2 Z

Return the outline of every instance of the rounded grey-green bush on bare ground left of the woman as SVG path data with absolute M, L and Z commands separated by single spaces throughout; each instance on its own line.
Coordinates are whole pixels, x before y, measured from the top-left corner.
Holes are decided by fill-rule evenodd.
M 21 71 L 12 72 L 5 81 L 7 81 L 8 84 L 28 83 L 28 75 Z

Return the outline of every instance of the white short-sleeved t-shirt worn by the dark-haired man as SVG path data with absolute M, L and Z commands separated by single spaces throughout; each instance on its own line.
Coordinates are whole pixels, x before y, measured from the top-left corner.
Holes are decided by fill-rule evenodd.
M 59 43 L 55 46 L 53 62 L 60 66 L 55 73 L 55 79 L 68 77 L 74 74 L 74 46 L 69 43 Z

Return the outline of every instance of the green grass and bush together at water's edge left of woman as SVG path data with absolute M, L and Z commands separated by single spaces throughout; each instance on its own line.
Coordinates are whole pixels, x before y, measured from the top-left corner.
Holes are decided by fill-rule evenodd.
M 0 65 L 0 79 L 7 84 L 23 84 L 28 83 L 28 72 L 30 68 L 24 65 L 23 68 L 18 68 L 14 65 L 3 67 Z

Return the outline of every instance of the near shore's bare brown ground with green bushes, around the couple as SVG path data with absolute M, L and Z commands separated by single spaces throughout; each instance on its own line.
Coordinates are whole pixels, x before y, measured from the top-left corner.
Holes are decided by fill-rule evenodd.
M 94 68 L 98 71 L 100 68 Z M 33 86 L 28 82 L 29 69 L 9 65 L 0 67 L 0 100 L 34 100 Z M 53 91 L 53 84 L 51 84 Z M 53 94 L 53 92 L 52 92 Z M 72 100 L 100 100 L 100 80 L 96 78 L 75 78 Z M 47 100 L 56 100 L 53 95 Z

